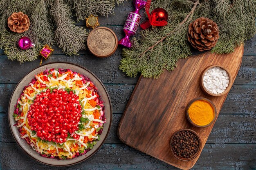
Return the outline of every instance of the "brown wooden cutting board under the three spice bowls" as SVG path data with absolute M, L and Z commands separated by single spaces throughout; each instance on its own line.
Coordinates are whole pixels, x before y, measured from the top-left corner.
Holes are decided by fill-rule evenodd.
M 242 62 L 243 49 L 241 45 L 230 54 L 207 52 L 180 59 L 177 68 L 164 71 L 158 79 L 140 77 L 119 123 L 121 141 L 177 168 L 192 168 L 200 154 L 191 161 L 175 158 L 170 138 L 176 130 L 189 128 L 198 133 L 204 148 L 215 122 L 205 128 L 191 125 L 186 119 L 186 106 L 194 98 L 206 97 L 215 104 L 218 115 L 227 94 L 213 97 L 204 93 L 199 85 L 200 75 L 207 66 L 219 64 L 229 69 L 233 84 Z

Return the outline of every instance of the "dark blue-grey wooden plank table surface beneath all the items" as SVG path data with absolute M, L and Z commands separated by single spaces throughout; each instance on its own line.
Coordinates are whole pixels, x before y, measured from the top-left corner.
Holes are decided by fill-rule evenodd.
M 123 36 L 122 27 L 127 13 L 132 11 L 130 2 L 115 9 L 115 15 L 99 18 Z M 78 23 L 85 25 L 84 21 Z M 27 156 L 14 141 L 9 129 L 7 109 L 9 99 L 18 81 L 31 69 L 39 66 L 40 59 L 20 64 L 11 62 L 0 50 L 0 170 L 174 170 L 159 161 L 123 144 L 117 137 L 117 126 L 125 106 L 137 83 L 138 77 L 126 77 L 118 66 L 121 47 L 109 58 L 94 57 L 87 50 L 78 56 L 66 56 L 54 47 L 54 55 L 47 62 L 73 62 L 95 73 L 105 84 L 113 106 L 110 134 L 100 150 L 90 159 L 70 167 L 51 167 Z M 129 123 L 129 122 L 127 122 Z M 163 148 L 164 149 L 164 148 Z M 245 42 L 242 66 L 220 115 L 207 140 L 195 170 L 256 170 L 256 37 Z

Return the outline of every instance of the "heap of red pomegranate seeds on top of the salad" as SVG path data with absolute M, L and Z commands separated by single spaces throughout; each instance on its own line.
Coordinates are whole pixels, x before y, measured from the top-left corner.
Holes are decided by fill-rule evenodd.
M 68 132 L 78 140 L 80 136 L 74 134 L 82 116 L 78 99 L 72 91 L 67 93 L 62 89 L 53 89 L 52 93 L 47 89 L 36 95 L 27 115 L 31 130 L 35 130 L 42 140 L 63 143 L 67 141 Z

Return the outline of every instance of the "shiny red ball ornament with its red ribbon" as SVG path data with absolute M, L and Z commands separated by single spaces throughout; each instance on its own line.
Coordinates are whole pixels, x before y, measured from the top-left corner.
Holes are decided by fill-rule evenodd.
M 165 26 L 167 25 L 168 13 L 162 8 L 154 9 L 151 14 L 149 14 L 151 0 L 147 1 L 146 13 L 148 14 L 148 20 L 143 22 L 140 27 L 142 29 L 148 29 L 150 26 Z

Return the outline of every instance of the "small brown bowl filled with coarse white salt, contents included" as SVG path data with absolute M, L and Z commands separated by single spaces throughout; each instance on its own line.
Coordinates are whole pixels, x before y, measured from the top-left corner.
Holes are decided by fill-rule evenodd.
M 200 87 L 211 96 L 222 96 L 232 86 L 230 71 L 221 65 L 211 65 L 204 69 L 200 79 Z

